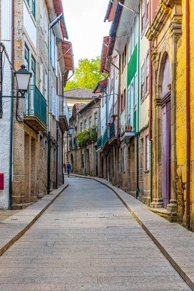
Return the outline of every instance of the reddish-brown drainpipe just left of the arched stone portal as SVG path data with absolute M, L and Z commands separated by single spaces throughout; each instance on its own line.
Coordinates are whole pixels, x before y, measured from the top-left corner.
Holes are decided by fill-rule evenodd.
M 151 3 L 149 2 L 149 27 L 151 26 Z M 152 62 L 151 62 L 151 49 L 152 42 L 149 41 L 149 128 L 148 140 L 150 141 L 150 203 L 152 202 Z

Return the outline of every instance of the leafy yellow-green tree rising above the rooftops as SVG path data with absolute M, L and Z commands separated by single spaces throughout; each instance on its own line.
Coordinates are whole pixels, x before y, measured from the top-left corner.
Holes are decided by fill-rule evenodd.
M 75 69 L 74 79 L 67 82 L 65 90 L 80 87 L 93 90 L 97 82 L 104 79 L 104 77 L 99 74 L 99 69 L 100 57 L 92 60 L 87 58 L 80 59 L 78 67 Z

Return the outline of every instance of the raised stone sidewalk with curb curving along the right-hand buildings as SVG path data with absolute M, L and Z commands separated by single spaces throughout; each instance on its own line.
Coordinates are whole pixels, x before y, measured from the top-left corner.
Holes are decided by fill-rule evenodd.
M 79 178 L 93 179 L 111 189 L 137 222 L 143 227 L 163 255 L 169 260 L 183 280 L 194 290 L 194 233 L 171 223 L 149 210 L 149 207 L 123 190 L 114 187 L 102 178 L 74 175 Z

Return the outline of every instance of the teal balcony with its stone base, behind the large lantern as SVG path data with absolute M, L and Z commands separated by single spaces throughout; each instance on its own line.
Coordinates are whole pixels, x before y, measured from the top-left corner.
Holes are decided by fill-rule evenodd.
M 35 85 L 25 97 L 24 120 L 35 130 L 47 130 L 47 101 Z

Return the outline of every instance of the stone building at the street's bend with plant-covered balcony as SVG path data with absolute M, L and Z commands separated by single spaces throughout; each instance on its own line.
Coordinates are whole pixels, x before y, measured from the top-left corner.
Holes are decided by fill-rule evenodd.
M 100 134 L 100 98 L 92 100 L 82 109 L 73 108 L 69 125 L 73 135 L 66 138 L 65 159 L 71 163 L 72 173 L 85 176 L 98 176 L 97 137 Z

